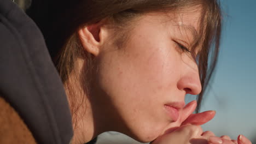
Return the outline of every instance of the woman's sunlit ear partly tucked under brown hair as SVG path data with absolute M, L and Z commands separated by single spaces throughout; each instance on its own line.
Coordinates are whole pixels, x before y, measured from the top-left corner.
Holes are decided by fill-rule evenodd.
M 106 38 L 105 30 L 102 21 L 80 28 L 78 35 L 84 50 L 97 56 Z

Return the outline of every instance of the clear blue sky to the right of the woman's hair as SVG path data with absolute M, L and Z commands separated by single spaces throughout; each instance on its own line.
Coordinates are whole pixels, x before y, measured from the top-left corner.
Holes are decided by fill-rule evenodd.
M 218 136 L 230 135 L 232 139 L 243 134 L 253 140 L 256 137 L 256 1 L 220 2 L 224 26 L 219 62 L 201 109 L 216 110 L 217 115 L 203 129 Z

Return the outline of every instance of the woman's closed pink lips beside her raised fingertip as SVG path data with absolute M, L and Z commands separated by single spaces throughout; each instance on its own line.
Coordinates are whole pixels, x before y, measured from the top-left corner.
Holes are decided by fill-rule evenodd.
M 165 110 L 167 114 L 171 117 L 173 122 L 176 122 L 179 118 L 179 110 L 181 110 L 185 106 L 185 102 L 172 102 L 165 104 Z

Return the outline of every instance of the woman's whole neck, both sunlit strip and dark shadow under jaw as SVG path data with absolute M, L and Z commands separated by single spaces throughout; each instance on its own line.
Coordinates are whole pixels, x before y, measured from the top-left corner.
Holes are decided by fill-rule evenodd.
M 72 143 L 86 143 L 94 139 L 97 135 L 104 131 L 118 131 L 113 129 L 112 109 L 107 109 L 109 104 L 106 104 L 106 99 L 101 97 L 98 99 L 96 96 L 104 95 L 101 91 L 96 88 L 97 85 L 92 83 L 81 83 L 84 71 L 82 70 L 84 65 L 83 61 L 79 61 L 74 66 L 73 71 L 65 82 L 65 90 L 67 93 L 69 108 L 72 113 L 72 123 L 74 136 Z M 92 76 L 89 76 L 92 77 Z M 85 79 L 85 77 L 83 77 Z M 84 86 L 92 86 L 90 95 L 88 94 L 89 88 Z M 118 125 L 115 123 L 115 125 Z M 118 128 L 119 125 L 117 126 Z

